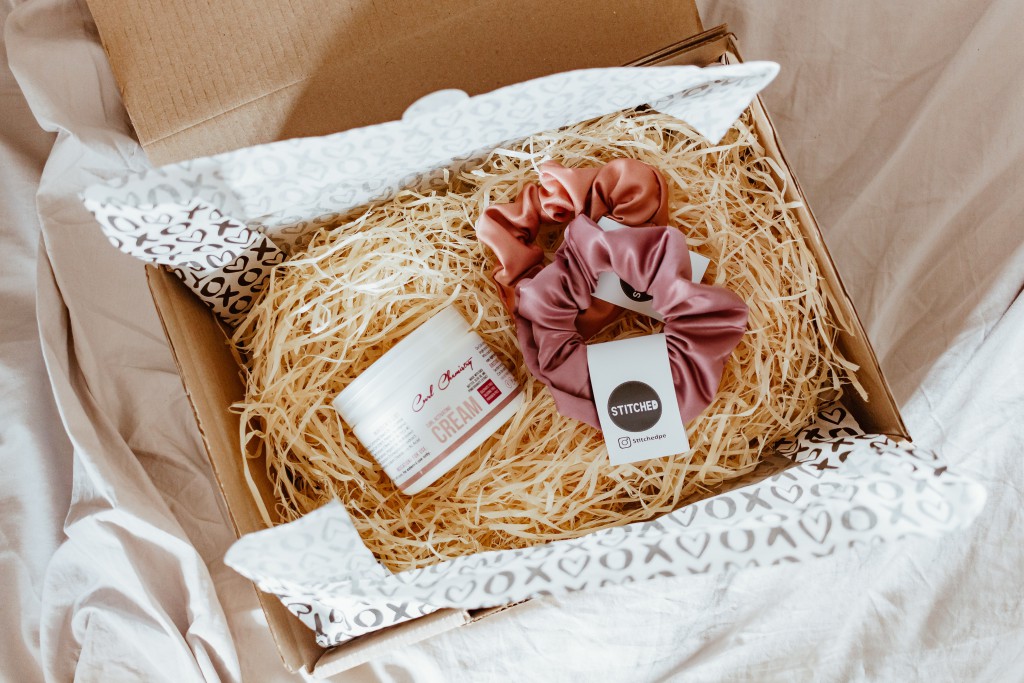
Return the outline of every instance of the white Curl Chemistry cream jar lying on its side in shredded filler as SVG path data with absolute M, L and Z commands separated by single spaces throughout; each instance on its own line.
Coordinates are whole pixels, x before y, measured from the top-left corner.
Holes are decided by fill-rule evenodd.
M 522 403 L 512 373 L 447 306 L 352 380 L 334 409 L 412 495 L 458 465 Z

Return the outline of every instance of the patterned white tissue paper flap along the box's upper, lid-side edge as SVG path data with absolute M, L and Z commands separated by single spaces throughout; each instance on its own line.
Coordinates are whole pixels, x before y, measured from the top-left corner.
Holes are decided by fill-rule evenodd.
M 648 102 L 717 142 L 777 72 L 752 61 L 555 74 L 401 121 L 164 166 L 82 201 L 115 247 L 170 266 L 234 324 L 296 240 L 353 207 L 429 185 L 503 142 Z

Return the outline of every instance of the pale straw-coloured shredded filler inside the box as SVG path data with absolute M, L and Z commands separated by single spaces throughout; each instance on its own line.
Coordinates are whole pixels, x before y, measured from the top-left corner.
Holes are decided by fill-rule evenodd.
M 559 415 L 526 373 L 473 224 L 535 180 L 543 159 L 593 166 L 621 157 L 663 172 L 671 224 L 711 259 L 703 282 L 742 297 L 750 318 L 715 401 L 687 425 L 691 450 L 611 466 L 600 432 Z M 265 457 L 278 512 L 294 519 L 338 498 L 367 546 L 397 571 L 650 519 L 751 472 L 844 385 L 860 390 L 835 345 L 846 323 L 836 318 L 774 165 L 745 116 L 709 145 L 678 119 L 630 111 L 495 150 L 453 171 L 446 189 L 407 189 L 312 236 L 276 268 L 233 339 L 247 358 L 246 399 L 237 405 L 244 456 L 250 467 Z M 449 303 L 522 382 L 525 407 L 408 497 L 331 400 Z M 595 341 L 657 328 L 627 312 Z

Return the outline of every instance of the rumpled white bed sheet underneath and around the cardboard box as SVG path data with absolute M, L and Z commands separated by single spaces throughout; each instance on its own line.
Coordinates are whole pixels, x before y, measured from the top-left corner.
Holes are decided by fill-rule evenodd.
M 1024 679 L 1024 6 L 701 10 L 782 65 L 767 104 L 910 432 L 986 509 L 940 541 L 535 600 L 337 680 Z M 75 198 L 142 163 L 84 2 L 0 11 L 2 678 L 296 680 L 220 561 L 141 265 Z

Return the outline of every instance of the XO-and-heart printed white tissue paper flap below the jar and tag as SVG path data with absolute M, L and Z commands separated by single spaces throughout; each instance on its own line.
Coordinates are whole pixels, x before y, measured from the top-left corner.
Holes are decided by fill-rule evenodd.
M 969 525 L 985 504 L 985 489 L 949 471 L 935 454 L 864 434 L 839 405 L 780 442 L 777 454 L 756 474 L 774 473 L 759 481 L 572 541 L 391 573 L 334 502 L 243 537 L 224 561 L 278 595 L 327 647 L 441 607 L 492 607 L 938 536 Z

